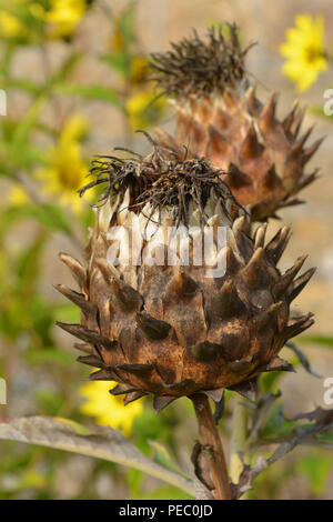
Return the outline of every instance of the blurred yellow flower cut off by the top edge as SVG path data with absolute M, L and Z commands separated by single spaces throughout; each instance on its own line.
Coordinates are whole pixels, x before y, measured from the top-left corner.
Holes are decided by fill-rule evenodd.
M 46 20 L 51 24 L 51 37 L 70 37 L 85 9 L 85 0 L 52 0 L 52 7 L 46 14 Z

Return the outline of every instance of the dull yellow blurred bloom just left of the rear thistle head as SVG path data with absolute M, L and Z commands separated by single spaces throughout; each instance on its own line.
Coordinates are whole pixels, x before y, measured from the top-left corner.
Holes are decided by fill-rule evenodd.
M 139 91 L 125 103 L 129 123 L 133 130 L 143 130 L 155 123 L 165 109 L 165 99 L 155 91 Z

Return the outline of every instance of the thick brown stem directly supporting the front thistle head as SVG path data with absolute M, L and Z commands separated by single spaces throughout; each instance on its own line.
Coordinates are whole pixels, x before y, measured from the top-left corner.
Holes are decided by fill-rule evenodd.
M 232 499 L 226 462 L 221 439 L 214 422 L 209 399 L 203 394 L 191 396 L 203 443 L 212 451 L 210 474 L 214 484 L 215 500 Z

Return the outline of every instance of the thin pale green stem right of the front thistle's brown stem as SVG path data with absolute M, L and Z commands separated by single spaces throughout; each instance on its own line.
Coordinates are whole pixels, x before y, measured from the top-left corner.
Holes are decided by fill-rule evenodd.
M 230 476 L 234 484 L 239 482 L 243 471 L 243 462 L 240 453 L 244 451 L 248 431 L 248 410 L 241 401 L 236 401 L 233 411 L 233 426 L 230 451 Z

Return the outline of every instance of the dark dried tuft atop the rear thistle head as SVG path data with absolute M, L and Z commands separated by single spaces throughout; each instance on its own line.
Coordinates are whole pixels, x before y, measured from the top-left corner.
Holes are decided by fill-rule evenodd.
M 151 56 L 154 80 L 169 96 L 223 92 L 235 89 L 246 78 L 244 60 L 252 46 L 241 47 L 234 23 L 210 28 L 205 39 L 193 30 L 191 38 L 183 38 L 171 47 L 170 51 Z

